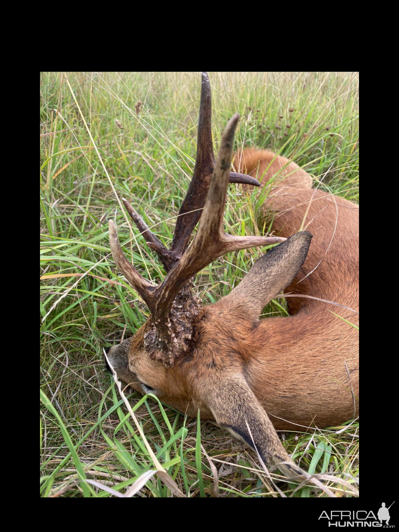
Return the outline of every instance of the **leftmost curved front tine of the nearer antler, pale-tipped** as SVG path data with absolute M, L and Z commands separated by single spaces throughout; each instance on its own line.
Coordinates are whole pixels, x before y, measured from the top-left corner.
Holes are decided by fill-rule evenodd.
M 139 274 L 136 268 L 132 264 L 130 264 L 130 262 L 124 256 L 121 245 L 119 243 L 118 232 L 112 220 L 109 221 L 109 235 L 111 252 L 115 264 L 118 266 L 118 268 L 126 277 L 126 279 L 129 281 L 130 285 L 137 290 L 140 296 L 142 296 L 143 300 L 148 306 L 148 309 L 154 315 L 156 303 L 154 292 L 156 286 L 152 286 L 151 284 L 149 284 L 149 282 Z

